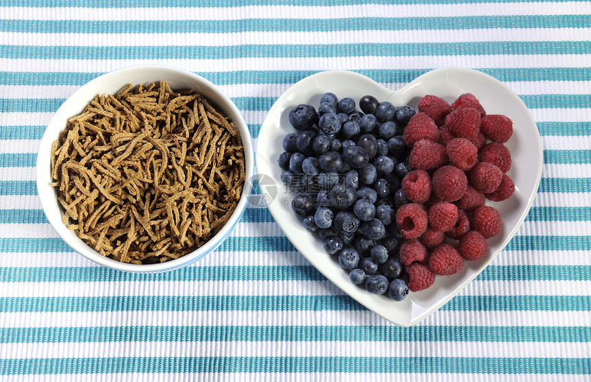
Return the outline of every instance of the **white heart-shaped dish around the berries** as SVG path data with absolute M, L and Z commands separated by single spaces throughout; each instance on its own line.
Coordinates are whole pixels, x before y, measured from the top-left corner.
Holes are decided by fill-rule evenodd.
M 410 292 L 401 302 L 391 300 L 386 294 L 370 294 L 365 288 L 350 282 L 348 273 L 339 266 L 335 256 L 324 251 L 322 239 L 306 230 L 301 217 L 291 210 L 293 194 L 283 187 L 280 180 L 282 170 L 277 162 L 283 152 L 283 137 L 295 132 L 289 123 L 289 111 L 298 104 L 311 104 L 316 108 L 320 97 L 327 92 L 334 93 L 339 99 L 351 97 L 355 102 L 364 95 L 373 95 L 379 102 L 392 102 L 397 107 L 410 105 L 415 110 L 424 95 L 436 95 L 451 104 L 459 95 L 472 93 L 488 114 L 506 115 L 513 121 L 513 136 L 505 145 L 513 160 L 508 175 L 515 182 L 515 193 L 504 202 L 487 201 L 500 211 L 503 222 L 500 234 L 488 240 L 487 255 L 478 261 L 465 261 L 463 269 L 457 274 L 436 276 L 434 285 L 423 291 Z M 434 313 L 500 254 L 523 223 L 542 176 L 542 141 L 535 121 L 520 97 L 494 77 L 462 68 L 427 72 L 397 91 L 350 71 L 324 71 L 310 75 L 291 86 L 271 107 L 258 135 L 255 157 L 261 184 L 269 184 L 270 177 L 278 189 L 284 190 L 278 193 L 278 197 L 268 198 L 267 202 L 271 214 L 295 248 L 346 294 L 400 326 L 412 326 Z

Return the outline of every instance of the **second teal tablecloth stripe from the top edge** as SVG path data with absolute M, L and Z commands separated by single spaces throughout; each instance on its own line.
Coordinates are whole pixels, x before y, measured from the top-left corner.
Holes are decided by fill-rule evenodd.
M 347 19 L 240 19 L 240 20 L 3 20 L 0 32 L 28 33 L 236 33 L 340 32 L 406 29 L 578 28 L 591 24 L 590 15 L 513 15 L 449 17 L 356 17 Z

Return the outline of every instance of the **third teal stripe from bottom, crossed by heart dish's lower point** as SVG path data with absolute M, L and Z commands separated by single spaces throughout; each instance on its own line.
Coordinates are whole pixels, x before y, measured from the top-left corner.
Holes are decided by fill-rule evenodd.
M 591 296 L 456 296 L 445 311 L 591 311 Z M 349 296 L 0 297 L 4 312 L 362 311 Z

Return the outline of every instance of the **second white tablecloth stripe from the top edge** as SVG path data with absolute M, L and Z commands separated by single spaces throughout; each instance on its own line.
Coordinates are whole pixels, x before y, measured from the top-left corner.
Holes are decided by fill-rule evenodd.
M 168 47 L 184 46 L 187 41 L 199 41 L 200 46 L 239 45 L 248 41 L 254 45 L 274 45 L 286 41 L 307 41 L 313 44 L 334 44 L 346 41 L 363 43 L 441 43 L 441 36 L 454 42 L 498 41 L 584 41 L 590 29 L 584 28 L 517 28 L 517 29 L 405 29 L 384 32 L 381 30 L 344 30 L 335 32 L 228 32 L 228 33 L 27 33 L 0 32 L 0 40 L 11 45 L 25 46 L 89 46 L 89 47 Z

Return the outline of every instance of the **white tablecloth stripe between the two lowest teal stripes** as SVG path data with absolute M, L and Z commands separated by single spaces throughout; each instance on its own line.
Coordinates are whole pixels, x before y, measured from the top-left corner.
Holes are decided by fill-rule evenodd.
M 586 358 L 587 342 L 346 342 L 335 346 L 333 341 L 314 341 L 313 346 L 294 346 L 291 341 L 161 341 L 161 342 L 44 342 L 41 344 L 0 344 L 3 359 L 45 358 L 59 355 L 63 358 L 109 357 L 211 357 L 212 350 L 223 350 L 232 357 L 552 357 Z M 231 353 L 227 353 L 230 352 Z M 429 353 L 425 350 L 429 349 Z

